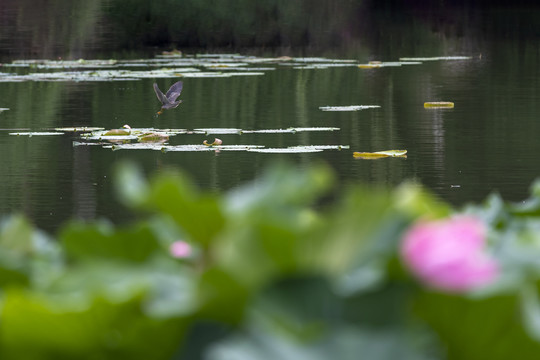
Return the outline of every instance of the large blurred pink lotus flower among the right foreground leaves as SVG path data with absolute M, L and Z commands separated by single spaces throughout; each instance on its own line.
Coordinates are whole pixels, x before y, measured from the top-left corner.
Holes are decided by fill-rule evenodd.
M 499 272 L 485 252 L 486 229 L 474 217 L 419 222 L 405 234 L 401 255 L 427 285 L 465 292 L 486 285 Z

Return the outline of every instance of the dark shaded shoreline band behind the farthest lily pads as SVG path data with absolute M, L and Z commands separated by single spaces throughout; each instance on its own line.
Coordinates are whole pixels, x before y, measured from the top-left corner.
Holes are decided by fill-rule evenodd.
M 158 49 L 300 56 L 411 48 L 432 37 L 479 43 L 540 34 L 534 2 L 101 0 L 59 2 L 56 8 L 8 0 L 2 6 L 0 60 L 140 56 Z M 57 22 L 58 13 L 68 16 Z

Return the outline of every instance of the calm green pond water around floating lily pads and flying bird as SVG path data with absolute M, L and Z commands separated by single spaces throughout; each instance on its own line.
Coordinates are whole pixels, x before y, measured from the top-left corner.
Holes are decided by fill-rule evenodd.
M 380 46 L 309 54 L 324 59 L 195 55 L 186 52 L 181 58 L 165 58 L 172 63 L 154 56 L 144 62 L 105 65 L 13 66 L 4 61 L 0 108 L 9 110 L 0 112 L 0 214 L 24 212 L 50 232 L 73 217 L 127 220 L 130 215 L 115 199 L 112 179 L 115 164 L 126 160 L 148 174 L 170 167 L 182 169 L 201 188 L 212 190 L 245 183 L 278 160 L 294 163 L 299 172 L 325 162 L 335 169 L 340 186 L 351 182 L 396 185 L 415 179 L 455 205 L 482 200 L 493 191 L 519 201 L 540 175 L 540 46 L 536 39 L 518 43 L 440 39 L 429 48 Z M 467 58 L 358 67 L 372 60 L 440 56 Z M 211 60 L 217 66 L 208 67 Z M 219 65 L 223 63 L 228 65 Z M 245 65 L 234 69 L 235 63 Z M 171 68 L 181 69 L 160 70 Z M 121 70 L 138 73 L 112 78 L 120 76 Z M 203 77 L 190 72 L 236 75 Z M 44 73 L 56 77 L 47 78 Z M 160 104 L 152 83 L 163 90 L 177 80 L 184 82 L 183 103 L 156 118 Z M 428 101 L 451 101 L 454 107 L 426 109 Z M 374 107 L 321 109 L 359 105 Z M 189 131 L 171 136 L 167 143 L 171 146 L 202 145 L 217 137 L 223 145 L 266 149 L 317 145 L 322 151 L 113 151 L 110 146 L 80 145 L 81 140 L 84 143 L 80 133 L 10 135 L 75 126 L 112 129 L 124 124 Z M 333 129 L 192 131 L 201 128 Z M 392 149 L 407 150 L 407 157 L 353 157 L 353 152 Z

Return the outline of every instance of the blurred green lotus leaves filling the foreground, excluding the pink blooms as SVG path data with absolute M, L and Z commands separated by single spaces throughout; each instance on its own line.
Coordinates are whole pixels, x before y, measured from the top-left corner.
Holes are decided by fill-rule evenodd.
M 351 186 L 276 166 L 226 194 L 179 173 L 117 175 L 129 226 L 66 224 L 56 240 L 21 216 L 0 227 L 2 359 L 536 359 L 540 185 L 461 212 L 489 226 L 503 272 L 445 294 L 398 257 L 419 218 L 454 213 L 421 187 Z M 326 201 L 321 201 L 326 199 Z M 174 258 L 174 241 L 193 247 Z

